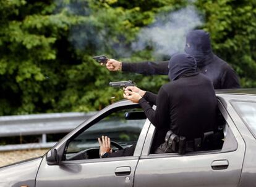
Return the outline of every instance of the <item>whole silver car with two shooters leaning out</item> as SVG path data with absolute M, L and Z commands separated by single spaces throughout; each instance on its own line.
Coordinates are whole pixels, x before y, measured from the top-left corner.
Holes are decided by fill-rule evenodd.
M 122 100 L 80 124 L 44 156 L 0 169 L 0 186 L 256 186 L 256 89 L 216 91 L 224 117 L 221 149 L 153 154 L 155 127 Z M 195 108 L 196 109 L 196 108 Z M 96 138 L 133 156 L 100 159 Z

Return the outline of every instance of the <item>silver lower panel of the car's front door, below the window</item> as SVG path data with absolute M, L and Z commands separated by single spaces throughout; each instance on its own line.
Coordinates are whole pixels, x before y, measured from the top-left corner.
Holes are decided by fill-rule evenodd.
M 131 156 L 123 157 L 123 159 L 113 157 L 92 159 L 91 161 L 62 162 L 61 165 L 48 165 L 44 158 L 36 177 L 36 187 L 130 187 L 134 180 L 134 170 L 138 160 L 139 157 Z

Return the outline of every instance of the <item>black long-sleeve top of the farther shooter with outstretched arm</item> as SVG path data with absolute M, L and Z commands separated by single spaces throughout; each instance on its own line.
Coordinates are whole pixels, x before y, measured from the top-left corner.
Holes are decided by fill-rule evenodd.
M 141 62 L 122 63 L 122 71 L 140 73 L 145 75 L 168 74 L 168 61 L 164 62 Z M 240 88 L 239 78 L 233 68 L 221 58 L 213 55 L 211 63 L 198 68 L 200 73 L 205 74 L 215 89 Z

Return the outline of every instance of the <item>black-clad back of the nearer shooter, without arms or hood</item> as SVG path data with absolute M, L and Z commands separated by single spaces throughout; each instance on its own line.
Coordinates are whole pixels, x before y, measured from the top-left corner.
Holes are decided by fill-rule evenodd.
M 187 140 L 215 129 L 216 96 L 203 74 L 184 76 L 163 86 L 169 93 L 170 129 Z

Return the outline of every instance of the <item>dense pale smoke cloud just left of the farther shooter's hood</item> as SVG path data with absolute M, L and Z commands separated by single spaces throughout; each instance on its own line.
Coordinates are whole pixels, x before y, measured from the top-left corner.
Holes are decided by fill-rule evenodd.
M 186 34 L 202 23 L 194 6 L 187 6 L 166 16 L 159 15 L 155 23 L 140 31 L 137 41 L 132 44 L 132 50 L 153 47 L 156 56 L 183 52 Z

